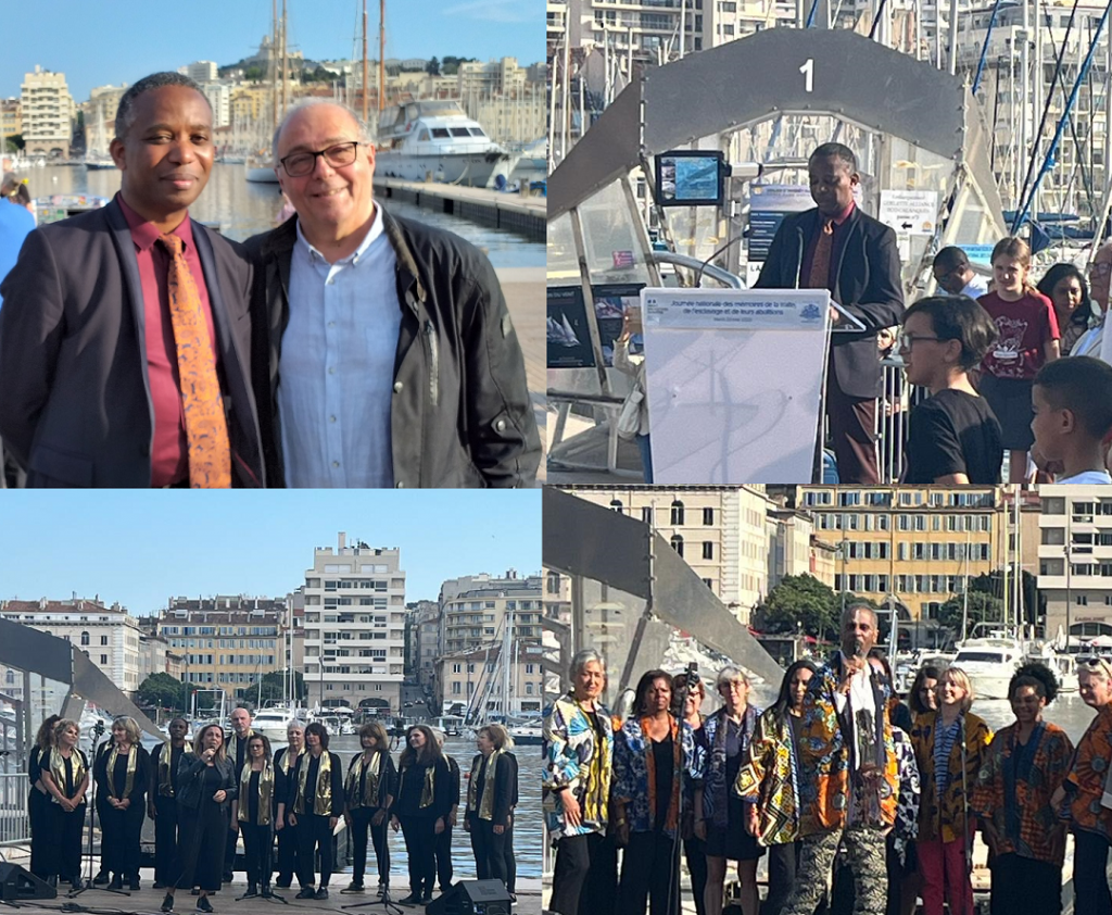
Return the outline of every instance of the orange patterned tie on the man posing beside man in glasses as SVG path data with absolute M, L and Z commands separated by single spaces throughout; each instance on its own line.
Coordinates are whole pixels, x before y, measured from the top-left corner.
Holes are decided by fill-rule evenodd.
M 170 253 L 167 285 L 173 340 L 178 347 L 181 406 L 186 414 L 189 485 L 191 489 L 229 489 L 231 449 L 201 297 L 186 263 L 186 243 L 177 235 L 161 235 L 159 240 Z

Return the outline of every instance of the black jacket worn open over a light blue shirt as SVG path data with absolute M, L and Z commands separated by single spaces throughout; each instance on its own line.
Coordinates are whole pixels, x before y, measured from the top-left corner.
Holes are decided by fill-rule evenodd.
M 390 406 L 395 485 L 532 486 L 540 437 L 494 267 L 450 232 L 386 209 L 383 220 L 397 258 L 396 287 L 384 293 L 395 293 L 401 309 Z M 251 361 L 271 486 L 286 480 L 278 363 L 290 343 L 284 336 L 296 243 L 296 218 L 246 243 L 256 260 Z

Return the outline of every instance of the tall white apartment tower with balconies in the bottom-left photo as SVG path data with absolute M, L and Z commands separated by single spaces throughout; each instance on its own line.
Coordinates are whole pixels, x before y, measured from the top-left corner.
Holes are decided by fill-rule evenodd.
M 406 573 L 399 551 L 348 545 L 314 550 L 305 573 L 305 680 L 309 702 L 401 705 Z M 371 702 L 370 700 L 375 700 Z

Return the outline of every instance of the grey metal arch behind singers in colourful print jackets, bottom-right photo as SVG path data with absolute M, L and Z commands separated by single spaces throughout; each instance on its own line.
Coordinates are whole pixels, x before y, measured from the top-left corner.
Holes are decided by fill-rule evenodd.
M 652 601 L 655 617 L 697 633 L 707 648 L 778 688 L 781 666 L 661 534 L 555 486 L 545 486 L 542 509 L 545 567 Z

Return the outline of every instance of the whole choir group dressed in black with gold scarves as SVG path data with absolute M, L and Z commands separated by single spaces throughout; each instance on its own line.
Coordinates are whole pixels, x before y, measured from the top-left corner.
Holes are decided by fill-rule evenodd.
M 479 729 L 461 797 L 459 766 L 426 725 L 407 730 L 396 764 L 383 725 L 363 725 L 361 750 L 347 766 L 329 751 L 320 722 L 291 724 L 288 746 L 277 752 L 251 729 L 248 709 L 237 708 L 231 725 L 227 740 L 222 727 L 211 724 L 190 744 L 188 724 L 176 718 L 169 740 L 148 754 L 135 719 L 117 718 L 90 766 L 78 748 L 78 725 L 48 718 L 28 766 L 31 872 L 56 886 L 81 887 L 91 784 L 101 839 L 93 885 L 140 888 L 140 834 L 149 816 L 155 821 L 153 886 L 166 892 L 162 912 L 173 912 L 179 889 L 198 897 L 199 912 L 211 912 L 210 895 L 232 880 L 240 835 L 245 896 L 269 898 L 296 879 L 298 899 L 327 899 L 338 869 L 340 819 L 350 830 L 354 865 L 341 893 L 365 892 L 368 838 L 379 893 L 388 888 L 387 829 L 393 828 L 403 834 L 409 868 L 409 894 L 398 902 L 427 905 L 437 880 L 441 893 L 453 885 L 451 835 L 461 823 L 478 878 L 502 880 L 516 902 L 517 759 L 503 726 Z

